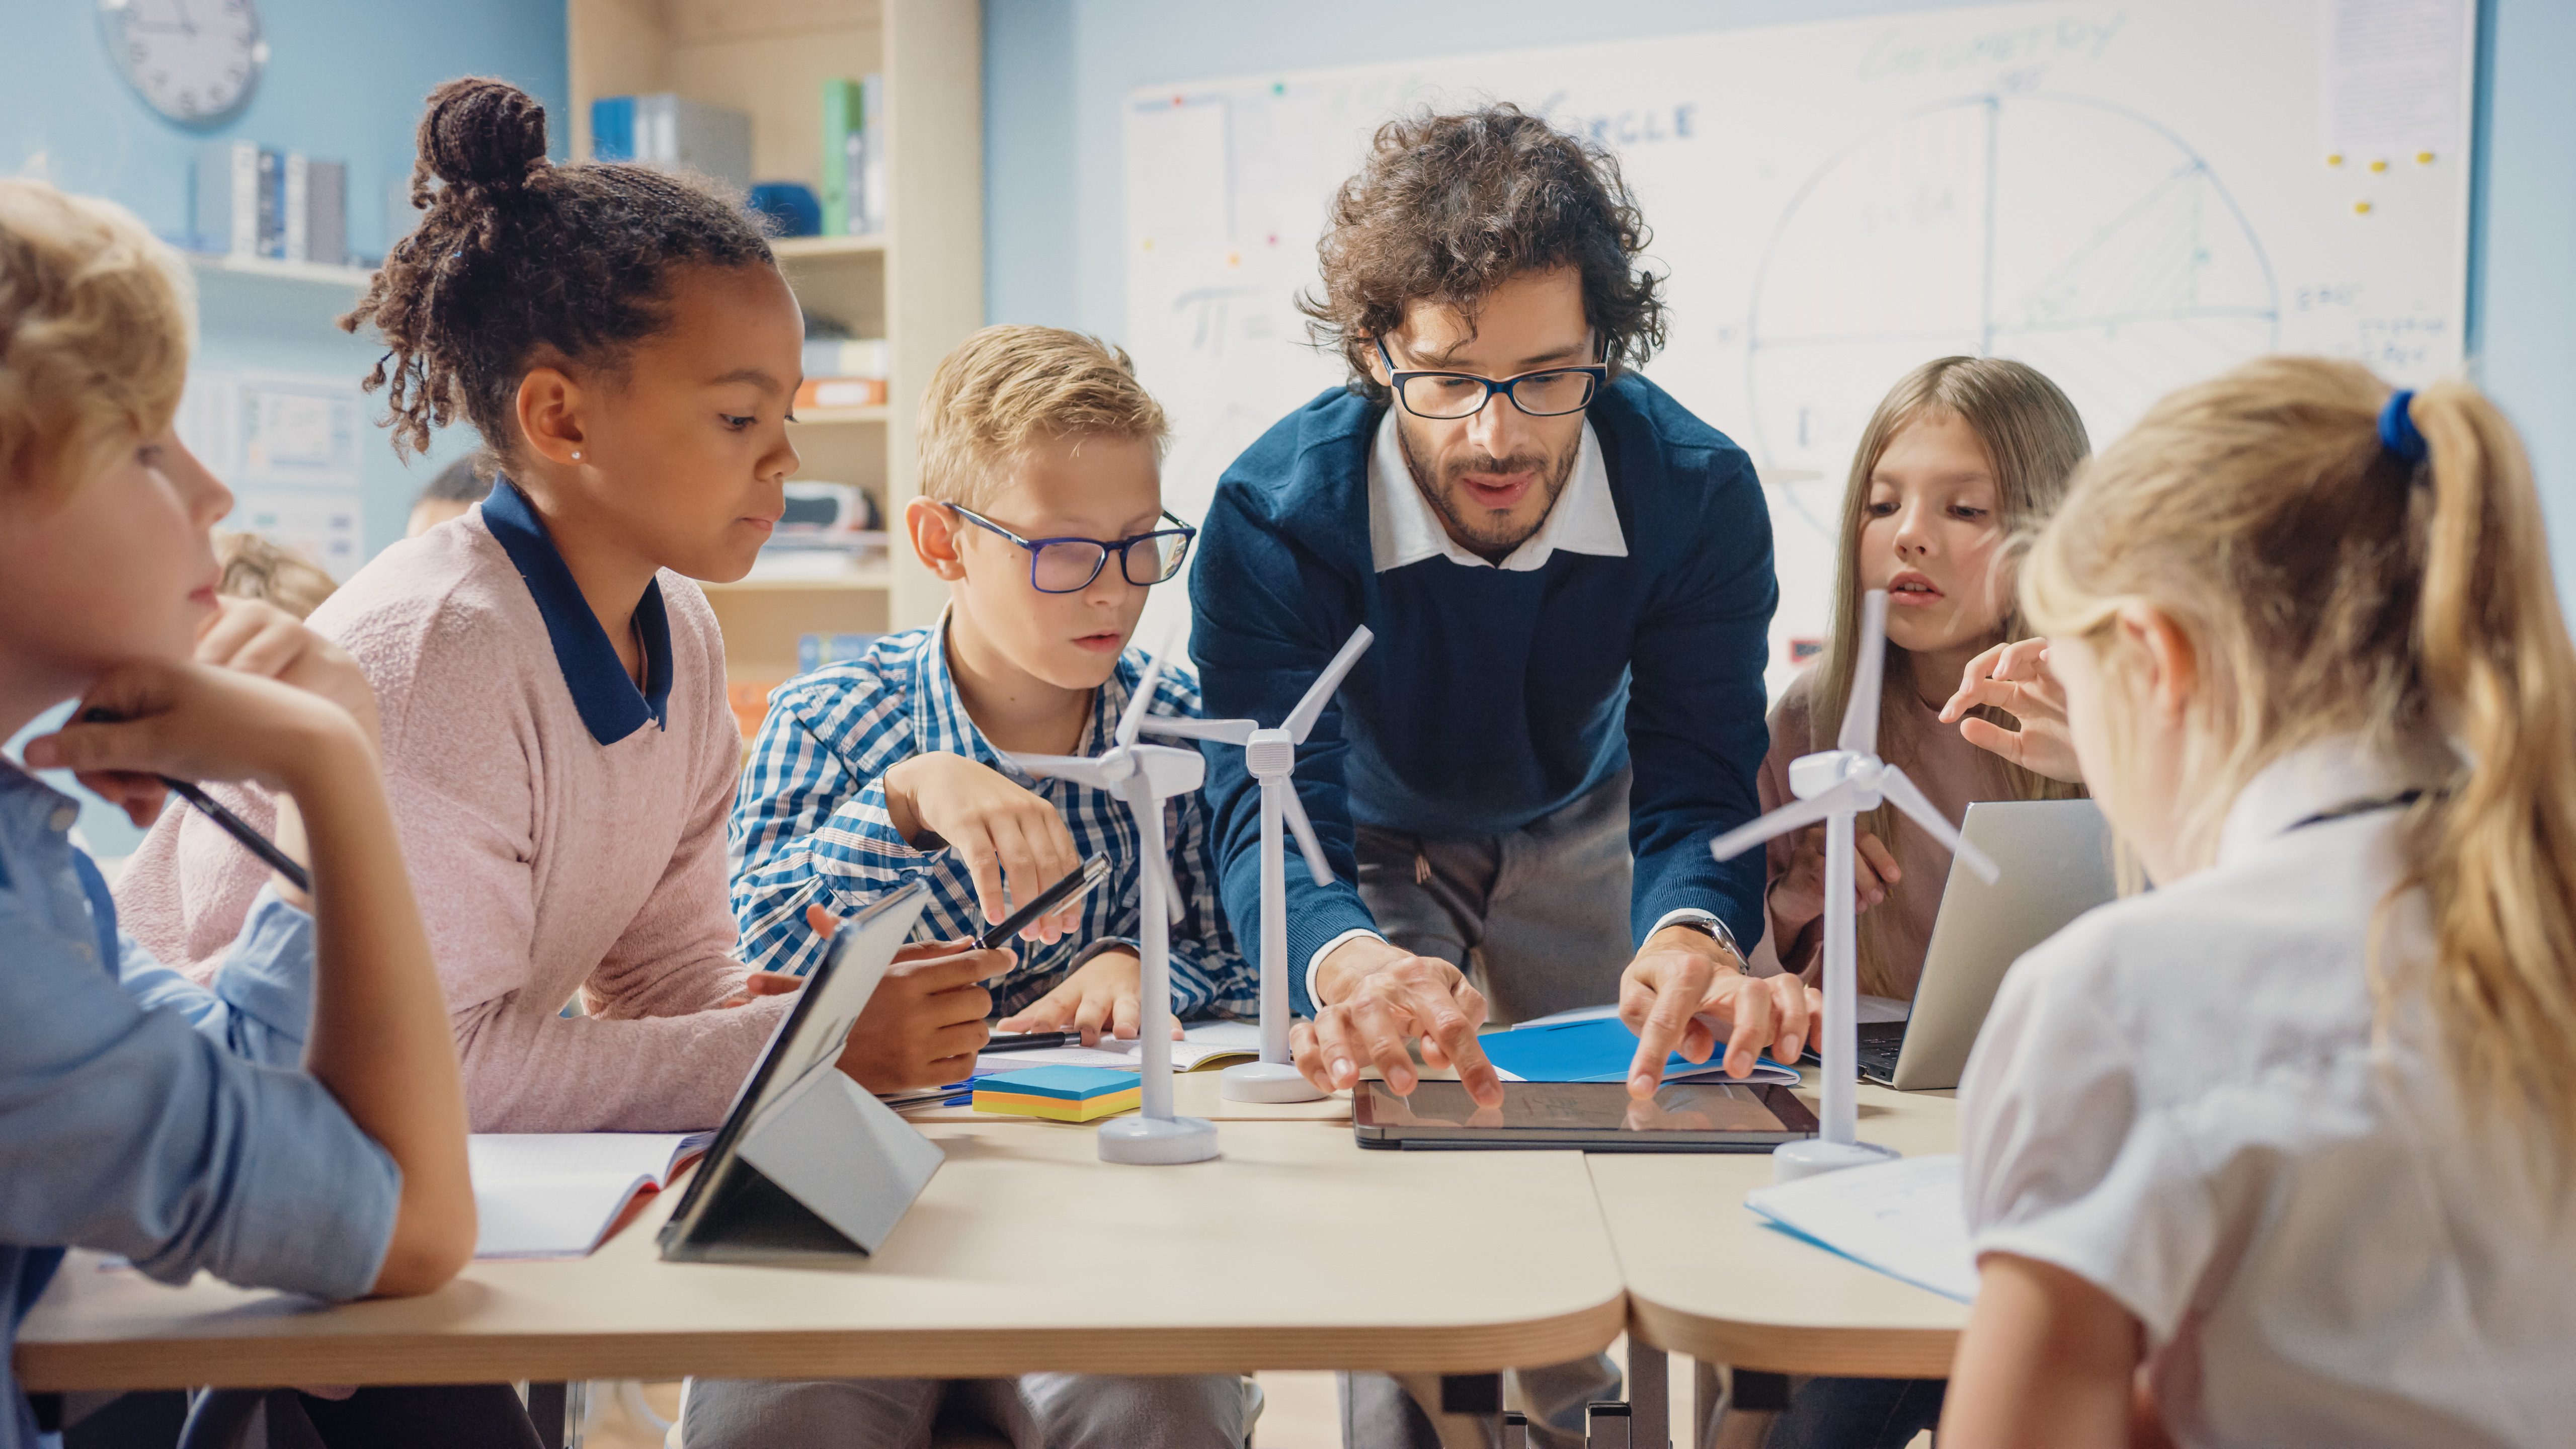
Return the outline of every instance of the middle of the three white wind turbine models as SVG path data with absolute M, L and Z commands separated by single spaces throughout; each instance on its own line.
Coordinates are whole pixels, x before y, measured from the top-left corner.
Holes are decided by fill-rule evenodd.
M 1352 629 L 1342 652 L 1324 665 L 1324 673 L 1296 701 L 1278 730 L 1262 730 L 1252 719 L 1175 719 L 1154 714 L 1144 727 L 1154 735 L 1180 735 L 1190 740 L 1218 740 L 1244 748 L 1244 768 L 1262 784 L 1262 1060 L 1226 1067 L 1216 1091 L 1231 1101 L 1316 1101 L 1324 1093 L 1309 1083 L 1288 1057 L 1288 851 L 1280 841 L 1280 820 L 1296 830 L 1298 851 L 1306 853 L 1306 874 L 1314 884 L 1332 884 L 1332 866 L 1324 846 L 1314 838 L 1306 807 L 1296 797 L 1296 748 L 1306 743 L 1314 722 L 1332 704 L 1332 691 L 1342 688 L 1342 676 L 1360 663 L 1376 634 L 1368 624 Z

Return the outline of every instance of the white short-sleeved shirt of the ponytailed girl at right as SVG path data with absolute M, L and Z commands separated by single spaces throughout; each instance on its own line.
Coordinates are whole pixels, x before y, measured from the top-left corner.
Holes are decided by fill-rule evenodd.
M 2372 1039 L 2398 812 L 2298 828 L 2398 789 L 2349 740 L 2277 761 L 2218 864 L 2022 957 L 1968 1060 L 1976 1253 L 2138 1315 L 2179 1444 L 2576 1436 L 2576 1232 L 2465 1134 L 2421 995 Z M 2380 967 L 2406 980 L 2427 946 L 2411 892 Z

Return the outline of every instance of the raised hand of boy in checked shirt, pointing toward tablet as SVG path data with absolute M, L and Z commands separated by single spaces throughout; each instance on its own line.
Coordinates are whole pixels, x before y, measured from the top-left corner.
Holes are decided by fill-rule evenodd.
M 1038 892 L 1082 869 L 1074 833 L 1043 797 L 1025 792 L 999 771 L 963 755 L 933 750 L 886 771 L 886 815 L 904 841 L 925 833 L 948 841 L 974 871 L 974 897 L 984 920 L 1010 915 L 1010 900 L 1036 900 Z M 1010 882 L 1010 897 L 1002 882 Z M 1028 941 L 1056 941 L 1082 920 L 1082 905 L 1041 918 Z

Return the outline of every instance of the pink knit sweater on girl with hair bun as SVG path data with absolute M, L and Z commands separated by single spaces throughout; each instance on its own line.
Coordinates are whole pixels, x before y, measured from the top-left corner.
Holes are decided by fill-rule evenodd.
M 474 511 L 394 544 L 314 616 L 376 686 L 384 771 L 438 957 L 474 1132 L 714 1127 L 791 998 L 716 1011 L 732 959 L 724 822 L 742 735 L 724 637 L 662 572 L 667 724 L 613 745 L 574 709 L 546 621 Z M 224 792 L 252 820 L 265 799 Z M 209 975 L 265 871 L 188 810 L 126 864 L 126 928 Z M 556 1016 L 574 990 L 590 1016 Z

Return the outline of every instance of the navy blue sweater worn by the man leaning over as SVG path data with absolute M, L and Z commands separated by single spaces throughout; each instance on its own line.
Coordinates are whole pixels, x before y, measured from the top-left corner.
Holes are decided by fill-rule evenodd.
M 1643 376 L 1592 402 L 1628 557 L 1558 549 L 1507 572 L 1430 557 L 1376 572 L 1368 451 L 1383 405 L 1334 389 L 1265 433 L 1216 485 L 1198 557 L 1190 655 L 1208 717 L 1278 724 L 1352 627 L 1378 642 L 1298 750 L 1296 789 L 1340 879 L 1288 871 L 1296 1008 L 1306 962 L 1373 928 L 1350 884 L 1352 822 L 1499 835 L 1636 766 L 1628 846 L 1638 938 L 1677 908 L 1762 933 L 1762 851 L 1708 841 L 1762 807 L 1762 660 L 1777 583 L 1754 467 Z M 1406 482 L 1409 485 L 1409 482 Z M 1226 915 L 1260 941 L 1260 789 L 1208 745 Z M 1291 851 L 1293 856 L 1293 851 Z M 1600 998 L 1628 962 L 1600 962 Z

